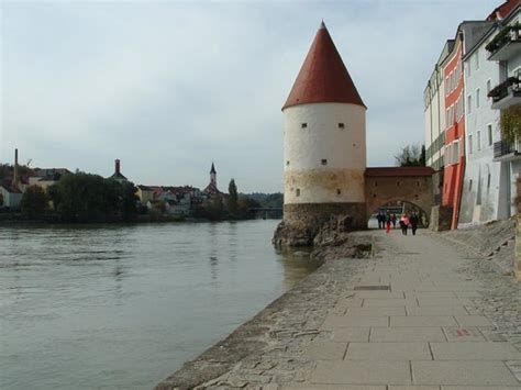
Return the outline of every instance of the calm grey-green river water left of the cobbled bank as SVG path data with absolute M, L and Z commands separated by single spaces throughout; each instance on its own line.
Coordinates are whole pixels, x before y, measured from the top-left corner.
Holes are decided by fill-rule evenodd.
M 152 388 L 319 266 L 277 223 L 0 227 L 0 388 Z

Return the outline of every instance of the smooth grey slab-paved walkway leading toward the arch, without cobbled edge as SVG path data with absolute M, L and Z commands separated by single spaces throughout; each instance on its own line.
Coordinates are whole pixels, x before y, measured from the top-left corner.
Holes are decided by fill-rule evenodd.
M 376 234 L 386 250 L 303 349 L 304 382 L 282 389 L 521 389 L 521 353 L 479 315 L 483 281 L 458 270 L 468 255 L 425 231 Z

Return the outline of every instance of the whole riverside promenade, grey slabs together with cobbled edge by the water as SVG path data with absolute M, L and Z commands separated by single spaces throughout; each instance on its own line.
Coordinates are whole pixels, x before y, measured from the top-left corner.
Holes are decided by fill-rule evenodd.
M 373 257 L 326 261 L 215 346 L 254 343 L 201 388 L 521 389 L 521 283 L 429 231 L 361 234 Z

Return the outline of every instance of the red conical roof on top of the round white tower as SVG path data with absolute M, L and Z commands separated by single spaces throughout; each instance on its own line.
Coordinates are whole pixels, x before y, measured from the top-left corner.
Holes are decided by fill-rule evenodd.
M 322 22 L 282 110 L 297 104 L 325 102 L 365 107 Z

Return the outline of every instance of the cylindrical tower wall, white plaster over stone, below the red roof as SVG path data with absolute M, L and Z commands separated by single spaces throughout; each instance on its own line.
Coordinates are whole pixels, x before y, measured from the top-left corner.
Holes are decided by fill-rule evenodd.
M 286 222 L 346 214 L 365 227 L 365 111 L 351 103 L 284 110 Z

